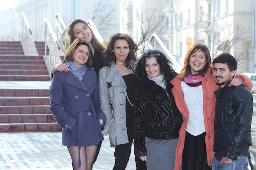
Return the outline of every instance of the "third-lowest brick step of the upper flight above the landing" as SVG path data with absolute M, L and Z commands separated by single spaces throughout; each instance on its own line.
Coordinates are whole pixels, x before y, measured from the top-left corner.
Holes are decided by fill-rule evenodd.
M 46 70 L 45 64 L 0 64 L 0 70 Z

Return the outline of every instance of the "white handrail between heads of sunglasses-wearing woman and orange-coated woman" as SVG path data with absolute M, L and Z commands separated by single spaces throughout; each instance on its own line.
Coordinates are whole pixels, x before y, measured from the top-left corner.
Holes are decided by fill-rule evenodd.
M 173 69 L 177 72 L 180 73 L 182 67 L 180 66 L 180 64 L 175 60 L 175 57 L 173 57 L 173 55 L 170 53 L 170 51 L 166 48 L 166 46 L 164 45 L 164 43 L 160 40 L 160 38 L 157 36 L 157 34 L 153 33 L 151 35 L 151 37 L 148 40 L 148 47 L 150 49 L 156 49 L 156 43 L 155 40 L 159 43 L 159 45 L 162 47 L 162 49 L 164 50 L 164 52 L 166 53 L 167 57 L 169 58 L 169 60 L 173 63 Z M 153 42 L 154 44 L 151 44 L 151 42 Z

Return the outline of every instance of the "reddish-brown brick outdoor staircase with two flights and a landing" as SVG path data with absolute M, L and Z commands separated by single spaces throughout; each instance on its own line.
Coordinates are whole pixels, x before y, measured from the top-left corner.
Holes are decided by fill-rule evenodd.
M 44 45 L 37 51 L 45 53 Z M 33 88 L 22 83 L 26 81 Z M 42 53 L 27 56 L 21 42 L 0 42 L 0 132 L 61 131 L 49 110 L 49 86 L 40 87 L 49 81 Z

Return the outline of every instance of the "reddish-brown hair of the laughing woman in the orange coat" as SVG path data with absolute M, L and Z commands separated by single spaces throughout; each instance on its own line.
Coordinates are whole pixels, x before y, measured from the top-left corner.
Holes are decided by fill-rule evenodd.
M 207 73 L 207 69 L 210 67 L 211 65 L 211 55 L 209 52 L 209 49 L 206 45 L 201 44 L 201 43 L 194 43 L 188 50 L 188 52 L 186 53 L 186 57 L 184 59 L 184 66 L 182 67 L 182 70 L 180 72 L 179 77 L 181 79 L 183 79 L 184 77 L 186 77 L 189 74 L 189 71 L 191 70 L 191 67 L 189 65 L 189 58 L 190 56 L 195 53 L 196 51 L 202 51 L 202 53 L 204 53 L 205 57 L 206 57 L 206 64 L 204 65 L 204 67 L 199 71 L 200 74 L 202 74 L 202 76 L 204 76 L 205 73 Z

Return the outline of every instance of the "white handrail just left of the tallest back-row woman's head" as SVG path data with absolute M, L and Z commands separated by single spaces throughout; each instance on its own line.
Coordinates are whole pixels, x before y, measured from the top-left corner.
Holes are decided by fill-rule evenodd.
M 61 14 L 57 13 L 54 19 L 54 22 L 57 26 L 57 32 L 59 32 L 61 34 L 61 49 L 65 52 L 66 51 L 66 46 L 67 46 L 67 38 L 66 38 L 66 30 L 67 30 L 67 26 L 64 23 L 63 19 L 61 18 Z M 62 44 L 62 39 L 65 39 L 65 44 L 64 44 L 64 49 L 63 49 L 63 44 Z M 58 38 L 58 34 L 57 34 L 57 38 Z

